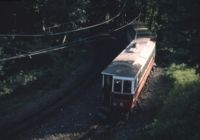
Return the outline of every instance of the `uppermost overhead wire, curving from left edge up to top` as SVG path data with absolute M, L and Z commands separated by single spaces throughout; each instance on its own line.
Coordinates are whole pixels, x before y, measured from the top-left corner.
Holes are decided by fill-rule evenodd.
M 91 26 L 87 26 L 87 27 L 83 27 L 83 28 L 79 28 L 79 29 L 73 29 L 73 30 L 68 30 L 68 31 L 63 31 L 63 32 L 57 32 L 57 33 L 42 33 L 42 34 L 0 34 L 0 37 L 44 37 L 44 36 L 57 36 L 57 35 L 65 35 L 65 34 L 69 34 L 69 33 L 75 33 L 75 32 L 80 32 L 80 31 L 84 31 L 84 30 L 88 30 L 88 29 L 92 29 L 92 28 L 96 28 L 105 24 L 108 24 L 109 22 L 115 20 L 116 18 L 118 18 L 124 8 L 126 7 L 128 0 L 125 0 L 121 10 L 118 12 L 117 15 L 113 16 L 112 18 L 105 20 L 103 22 L 100 22 L 98 24 L 94 24 Z

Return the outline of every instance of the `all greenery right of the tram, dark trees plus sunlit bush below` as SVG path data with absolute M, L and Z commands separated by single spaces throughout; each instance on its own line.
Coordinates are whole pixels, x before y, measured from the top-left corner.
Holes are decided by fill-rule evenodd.
M 152 123 L 138 130 L 137 139 L 197 140 L 200 138 L 200 76 L 188 65 L 196 67 L 200 62 L 199 54 L 195 53 L 199 52 L 200 44 L 196 25 L 200 7 L 197 0 L 146 0 L 144 3 L 145 22 L 158 34 L 157 61 L 167 67 L 166 76 L 172 86 L 169 92 L 161 93 L 161 110 Z

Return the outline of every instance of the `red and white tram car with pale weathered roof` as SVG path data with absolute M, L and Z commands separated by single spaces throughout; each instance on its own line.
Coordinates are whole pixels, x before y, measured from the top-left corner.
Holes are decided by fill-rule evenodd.
M 132 27 L 132 41 L 101 73 L 104 103 L 120 112 L 135 108 L 155 62 L 155 37 L 143 25 Z

